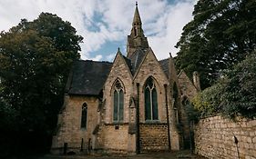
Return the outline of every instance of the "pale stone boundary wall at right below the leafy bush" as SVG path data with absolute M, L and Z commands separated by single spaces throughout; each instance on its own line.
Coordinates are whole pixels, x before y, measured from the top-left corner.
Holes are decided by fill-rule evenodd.
M 209 158 L 256 158 L 256 120 L 232 122 L 216 115 L 200 119 L 194 133 L 197 154 Z

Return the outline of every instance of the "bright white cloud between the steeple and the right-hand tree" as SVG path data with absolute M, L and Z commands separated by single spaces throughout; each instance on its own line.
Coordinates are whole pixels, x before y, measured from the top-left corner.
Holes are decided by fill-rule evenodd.
M 167 58 L 169 53 L 175 56 L 179 51 L 174 46 L 179 41 L 183 26 L 192 18 L 193 5 L 194 2 L 187 1 L 168 6 L 165 15 L 157 21 L 158 27 L 152 26 L 163 28 L 157 35 L 148 37 L 148 43 L 159 59 Z

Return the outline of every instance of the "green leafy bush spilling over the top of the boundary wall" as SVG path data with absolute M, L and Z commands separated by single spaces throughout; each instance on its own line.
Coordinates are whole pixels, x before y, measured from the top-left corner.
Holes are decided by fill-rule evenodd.
M 226 70 L 218 83 L 198 94 L 192 101 L 201 116 L 223 114 L 234 118 L 256 117 L 256 52 L 233 69 Z

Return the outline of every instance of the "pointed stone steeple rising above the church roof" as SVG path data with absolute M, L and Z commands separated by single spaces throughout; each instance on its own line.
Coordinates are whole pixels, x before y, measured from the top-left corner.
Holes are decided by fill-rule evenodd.
M 148 40 L 145 37 L 142 29 L 142 22 L 138 12 L 138 3 L 136 2 L 135 12 L 133 16 L 131 33 L 128 35 L 127 51 L 128 58 L 133 55 L 137 49 L 145 50 L 148 49 Z

